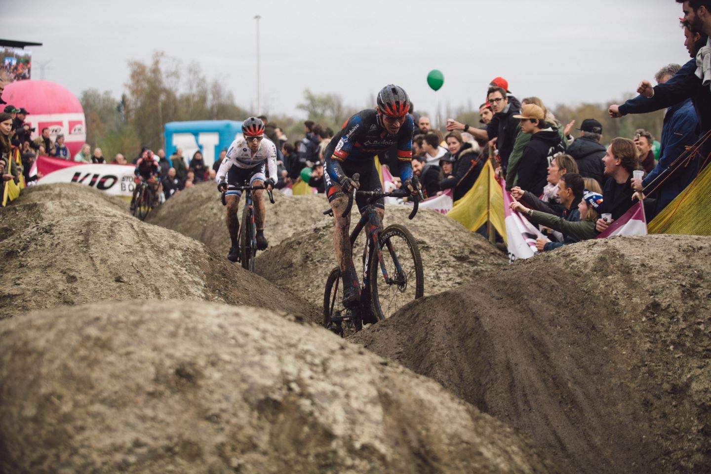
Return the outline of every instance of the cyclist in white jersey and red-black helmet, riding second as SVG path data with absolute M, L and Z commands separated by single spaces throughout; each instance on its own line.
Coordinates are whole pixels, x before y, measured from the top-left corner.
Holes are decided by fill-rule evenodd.
M 264 171 L 269 171 L 269 179 Z M 264 185 L 271 190 L 277 176 L 277 147 L 274 143 L 264 138 L 264 122 L 257 117 L 250 117 L 242 122 L 242 136 L 232 141 L 227 155 L 220 165 L 215 181 L 218 190 L 224 192 L 233 190 L 239 185 Z M 240 220 L 237 217 L 237 207 L 240 204 L 241 191 L 234 195 L 227 195 L 227 228 L 232 239 L 232 247 L 227 258 L 230 262 L 237 262 L 240 256 Z M 264 250 L 269 244 L 264 237 L 264 198 L 262 190 L 252 193 L 255 202 L 255 227 L 257 227 L 257 249 Z

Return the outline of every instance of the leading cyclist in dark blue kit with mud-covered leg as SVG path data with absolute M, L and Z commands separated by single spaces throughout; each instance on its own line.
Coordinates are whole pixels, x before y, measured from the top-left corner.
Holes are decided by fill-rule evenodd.
M 356 186 L 367 191 L 382 190 L 380 176 L 375 168 L 375 155 L 397 146 L 402 186 L 410 190 L 412 195 L 417 195 L 417 189 L 412 184 L 411 163 L 412 131 L 415 124 L 407 114 L 409 110 L 410 99 L 405 90 L 396 85 L 387 85 L 378 93 L 378 108 L 361 110 L 353 115 L 346 126 L 333 136 L 324 151 L 326 195 L 336 225 L 333 230 L 333 246 L 343 279 L 343 306 L 348 308 L 360 304 L 360 285 L 353 266 L 351 241 L 348 239 L 351 216 L 341 217 L 348 205 L 346 193 L 351 193 Z M 351 178 L 355 173 L 360 174 L 358 185 Z M 355 203 L 362 211 L 367 201 L 368 198 L 358 196 Z M 375 207 L 382 222 L 385 215 L 383 198 L 375 202 Z

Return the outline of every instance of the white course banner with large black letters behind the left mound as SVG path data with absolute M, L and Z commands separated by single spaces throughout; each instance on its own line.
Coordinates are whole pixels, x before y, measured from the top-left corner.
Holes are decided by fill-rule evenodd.
M 134 167 L 126 165 L 83 164 L 68 166 L 46 174 L 37 184 L 79 183 L 116 196 L 131 196 Z

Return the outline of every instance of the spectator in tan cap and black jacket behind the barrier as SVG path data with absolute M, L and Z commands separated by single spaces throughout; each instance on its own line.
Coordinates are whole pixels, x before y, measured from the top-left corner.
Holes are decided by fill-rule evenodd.
M 548 166 L 555 156 L 565 153 L 565 144 L 560 134 L 545 122 L 543 109 L 538 105 L 524 105 L 513 118 L 520 120 L 522 133 L 531 135 L 518 164 L 518 186 L 540 196 L 547 183 Z

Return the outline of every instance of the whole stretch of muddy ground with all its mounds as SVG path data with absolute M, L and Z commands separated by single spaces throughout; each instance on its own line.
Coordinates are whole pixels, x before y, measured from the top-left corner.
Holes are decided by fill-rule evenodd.
M 0 209 L 0 473 L 711 472 L 711 237 L 507 265 L 391 206 L 428 296 L 338 340 L 246 308 L 320 321 L 336 264 L 323 196 L 267 206 L 264 278 L 225 259 L 211 184 L 151 217 L 181 233 L 82 185 Z

